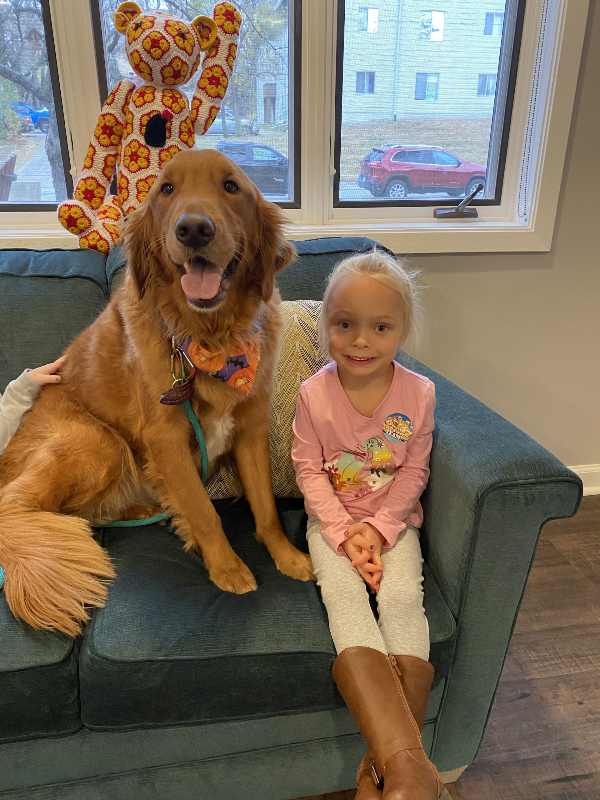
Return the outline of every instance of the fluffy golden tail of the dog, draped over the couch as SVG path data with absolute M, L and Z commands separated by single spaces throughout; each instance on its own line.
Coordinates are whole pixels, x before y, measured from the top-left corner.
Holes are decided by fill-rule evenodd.
M 10 610 L 30 626 L 77 636 L 106 603 L 110 558 L 78 517 L 0 504 L 0 564 Z

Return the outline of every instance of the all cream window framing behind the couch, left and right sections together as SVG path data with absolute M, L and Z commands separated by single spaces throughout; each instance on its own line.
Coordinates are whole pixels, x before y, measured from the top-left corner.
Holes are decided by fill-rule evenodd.
M 546 8 L 547 4 L 547 8 Z M 542 12 L 546 46 L 538 56 Z M 302 0 L 302 204 L 286 209 L 292 239 L 367 236 L 397 253 L 550 250 L 570 130 L 588 0 L 528 0 L 502 204 L 476 220 L 438 221 L 429 206 L 333 207 L 336 0 Z M 90 6 L 50 0 L 67 139 L 77 178 L 101 109 Z M 537 111 L 530 114 L 531 86 Z M 523 194 L 522 164 L 528 188 Z M 54 212 L 0 211 L 0 248 L 77 247 Z

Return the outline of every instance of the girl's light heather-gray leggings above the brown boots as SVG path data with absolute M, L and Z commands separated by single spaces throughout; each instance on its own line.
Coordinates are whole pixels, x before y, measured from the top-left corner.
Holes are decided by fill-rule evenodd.
M 429 626 L 423 609 L 423 574 L 418 530 L 406 526 L 390 550 L 382 550 L 383 575 L 377 595 L 379 624 L 369 590 L 345 553 L 336 553 L 309 517 L 306 538 L 314 575 L 329 616 L 338 654 L 347 647 L 372 647 L 390 655 L 429 659 Z

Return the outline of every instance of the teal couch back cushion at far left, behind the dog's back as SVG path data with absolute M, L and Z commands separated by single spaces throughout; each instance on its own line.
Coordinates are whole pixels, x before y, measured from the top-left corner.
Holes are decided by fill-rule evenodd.
M 26 366 L 54 361 L 108 299 L 96 250 L 2 250 L 0 392 Z

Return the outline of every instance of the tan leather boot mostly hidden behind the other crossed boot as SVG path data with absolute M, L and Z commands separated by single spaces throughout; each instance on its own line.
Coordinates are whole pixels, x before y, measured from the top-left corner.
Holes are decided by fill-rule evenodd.
M 422 730 L 431 684 L 434 681 L 434 665 L 414 655 L 397 655 L 395 659 L 410 713 L 418 725 L 418 730 Z M 369 749 L 356 774 L 355 800 L 381 800 L 381 790 L 373 782 L 374 764 L 375 759 Z

